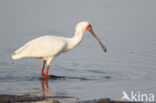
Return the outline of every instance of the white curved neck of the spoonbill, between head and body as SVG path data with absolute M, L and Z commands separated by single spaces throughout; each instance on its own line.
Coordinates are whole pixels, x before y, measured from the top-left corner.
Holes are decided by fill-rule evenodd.
M 75 35 L 70 38 L 66 51 L 71 50 L 72 48 L 76 47 L 78 44 L 81 43 L 83 40 L 84 31 L 83 30 L 76 30 Z

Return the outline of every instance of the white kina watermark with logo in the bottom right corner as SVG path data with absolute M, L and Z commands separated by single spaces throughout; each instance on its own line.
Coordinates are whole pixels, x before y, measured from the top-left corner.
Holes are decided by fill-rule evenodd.
M 154 102 L 154 94 L 152 93 L 142 93 L 140 91 L 134 92 L 131 91 L 127 93 L 126 91 L 122 91 L 122 101 L 135 101 L 135 102 Z

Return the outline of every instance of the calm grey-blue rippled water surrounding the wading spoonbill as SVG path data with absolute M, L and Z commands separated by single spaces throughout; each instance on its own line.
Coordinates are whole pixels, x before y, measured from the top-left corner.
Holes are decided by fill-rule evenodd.
M 0 1 L 0 94 L 67 95 L 81 100 L 120 100 L 123 90 L 156 94 L 155 4 L 152 0 Z M 64 78 L 42 80 L 41 60 L 11 59 L 13 51 L 35 37 L 73 36 L 82 20 L 91 22 L 108 53 L 85 32 L 77 48 L 51 63 L 49 73 Z

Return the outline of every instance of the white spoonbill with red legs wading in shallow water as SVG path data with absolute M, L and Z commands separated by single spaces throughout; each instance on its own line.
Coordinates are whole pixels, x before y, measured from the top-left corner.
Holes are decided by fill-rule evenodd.
M 83 21 L 76 25 L 75 35 L 72 38 L 58 37 L 58 36 L 41 36 L 31 40 L 24 46 L 16 50 L 12 54 L 13 59 L 20 59 L 24 57 L 43 59 L 43 66 L 41 69 L 41 76 L 44 78 L 52 77 L 48 75 L 49 65 L 51 61 L 63 52 L 67 52 L 76 47 L 83 39 L 84 31 L 89 31 L 98 41 L 103 51 L 107 49 L 97 38 L 96 34 L 89 22 Z M 45 63 L 47 63 L 46 73 L 44 73 Z

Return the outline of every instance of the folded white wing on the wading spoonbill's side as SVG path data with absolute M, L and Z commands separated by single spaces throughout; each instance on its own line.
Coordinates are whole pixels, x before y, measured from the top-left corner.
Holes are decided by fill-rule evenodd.
M 28 42 L 16 52 L 21 52 L 24 57 L 52 57 L 62 52 L 65 46 L 66 42 L 59 37 L 43 36 Z

